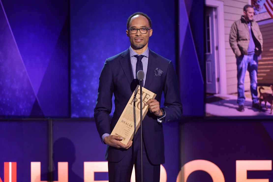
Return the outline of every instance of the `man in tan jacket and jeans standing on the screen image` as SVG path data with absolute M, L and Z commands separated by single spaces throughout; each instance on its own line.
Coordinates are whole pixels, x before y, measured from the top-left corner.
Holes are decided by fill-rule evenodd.
M 250 76 L 252 107 L 259 109 L 257 91 L 258 56 L 262 53 L 263 38 L 259 25 L 253 20 L 254 9 L 251 5 L 244 6 L 244 15 L 235 21 L 230 30 L 229 43 L 236 56 L 238 111 L 243 112 L 245 102 L 245 73 Z

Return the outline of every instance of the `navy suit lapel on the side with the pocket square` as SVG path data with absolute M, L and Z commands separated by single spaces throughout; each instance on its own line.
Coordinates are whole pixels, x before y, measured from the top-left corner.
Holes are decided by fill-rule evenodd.
M 155 77 L 154 71 L 157 67 L 157 61 L 156 61 L 157 55 L 149 49 L 149 59 L 148 59 L 148 67 L 147 67 L 147 74 L 146 74 L 146 80 L 144 87 L 149 89 L 149 86 L 153 82 L 153 78 Z

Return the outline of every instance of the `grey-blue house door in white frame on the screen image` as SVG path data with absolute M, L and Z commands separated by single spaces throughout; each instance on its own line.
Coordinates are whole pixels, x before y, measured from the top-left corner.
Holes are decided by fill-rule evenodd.
M 218 76 L 217 76 L 217 51 L 216 44 L 216 13 L 215 8 L 206 7 L 205 32 L 206 32 L 206 93 L 217 94 L 218 91 Z

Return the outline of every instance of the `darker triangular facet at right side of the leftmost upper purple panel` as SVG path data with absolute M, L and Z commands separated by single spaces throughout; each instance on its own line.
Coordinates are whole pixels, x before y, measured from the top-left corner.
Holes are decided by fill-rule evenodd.
M 69 16 L 54 46 L 37 97 L 45 116 L 69 115 Z

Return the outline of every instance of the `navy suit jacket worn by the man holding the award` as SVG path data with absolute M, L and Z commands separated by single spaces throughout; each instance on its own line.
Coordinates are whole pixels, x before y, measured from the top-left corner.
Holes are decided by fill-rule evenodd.
M 159 68 L 164 73 L 155 76 L 154 71 Z M 149 50 L 149 60 L 145 88 L 156 94 L 155 99 L 160 103 L 164 92 L 164 122 L 179 119 L 182 115 L 179 84 L 173 63 Z M 94 117 L 100 138 L 103 134 L 114 129 L 121 113 L 136 88 L 130 61 L 129 49 L 106 59 L 99 78 L 99 89 Z M 112 95 L 115 97 L 115 111 L 112 119 L 109 114 L 112 109 Z M 147 155 L 154 165 L 165 162 L 164 137 L 162 123 L 158 123 L 157 116 L 148 112 L 142 123 L 143 139 Z M 127 150 L 108 146 L 105 159 L 119 162 Z

